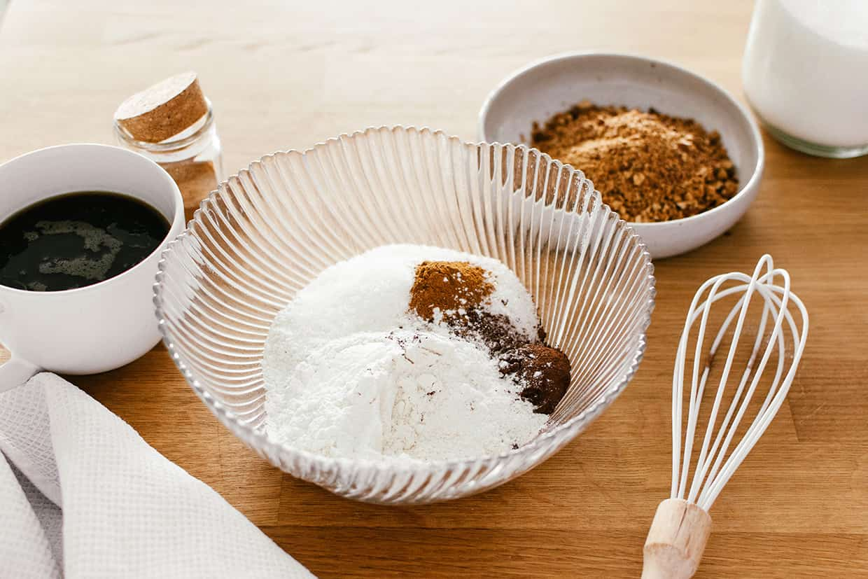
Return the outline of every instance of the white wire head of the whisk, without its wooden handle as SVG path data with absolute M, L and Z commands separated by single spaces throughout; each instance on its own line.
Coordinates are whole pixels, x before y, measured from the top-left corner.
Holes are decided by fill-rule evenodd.
M 776 280 L 781 280 L 780 284 Z M 721 289 L 727 282 L 741 282 L 740 285 Z M 703 358 L 703 344 L 707 332 L 707 324 L 712 306 L 720 299 L 734 294 L 741 294 L 733 308 L 727 314 L 713 339 L 713 343 Z M 707 294 L 707 295 L 706 295 Z M 726 414 L 718 426 L 721 401 L 727 391 L 727 382 L 735 363 L 741 333 L 745 326 L 748 309 L 754 294 L 763 300 L 762 313 L 753 348 L 746 362 L 733 394 L 733 400 L 728 405 Z M 705 297 L 704 297 L 705 296 Z M 790 306 L 799 310 L 801 328 L 790 312 Z M 683 434 L 682 452 L 682 400 L 684 397 L 684 373 L 687 360 L 687 345 L 697 319 L 700 319 L 694 348 L 693 373 L 690 382 L 690 396 L 687 408 L 687 426 Z M 727 359 L 721 372 L 718 389 L 714 396 L 708 424 L 703 436 L 699 457 L 694 468 L 694 478 L 687 490 L 687 478 L 690 472 L 691 457 L 694 447 L 697 423 L 700 416 L 702 398 L 711 372 L 711 366 L 717 350 L 726 338 L 729 328 L 735 321 L 733 339 L 730 342 Z M 766 328 L 772 322 L 772 329 L 766 339 Z M 785 324 L 786 322 L 786 324 Z M 786 328 L 786 329 L 785 329 Z M 685 499 L 696 503 L 700 508 L 708 510 L 727 484 L 733 472 L 739 467 L 746 455 L 753 449 L 768 424 L 771 423 L 782 405 L 786 394 L 792 385 L 792 379 L 799 366 L 805 340 L 808 332 L 808 314 L 802 301 L 790 291 L 790 276 L 784 269 L 774 267 L 770 255 L 763 255 L 753 270 L 753 275 L 745 273 L 724 273 L 707 280 L 700 286 L 691 302 L 687 313 L 684 329 L 675 354 L 673 373 L 673 467 L 671 498 Z M 789 338 L 789 340 L 787 339 Z M 792 360 L 786 371 L 786 345 L 792 341 Z M 765 345 L 765 347 L 764 347 Z M 762 355 L 759 356 L 759 352 Z M 763 373 L 766 371 L 769 359 L 778 352 L 778 363 L 768 392 L 760 405 L 757 415 L 747 428 L 744 436 L 735 445 L 732 454 L 727 457 L 727 451 L 733 443 L 733 438 L 741 424 L 742 418 L 750 405 L 759 386 Z M 704 360 L 704 362 L 703 362 Z M 786 371 L 786 375 L 785 375 Z M 687 497 L 685 497 L 687 493 Z

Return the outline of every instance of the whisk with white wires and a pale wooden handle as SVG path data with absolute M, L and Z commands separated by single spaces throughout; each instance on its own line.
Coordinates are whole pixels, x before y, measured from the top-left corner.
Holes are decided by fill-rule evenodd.
M 736 286 L 725 286 L 736 282 Z M 715 302 L 720 299 L 740 296 L 733 308 L 727 314 L 714 337 L 711 347 L 700 364 L 703 342 L 706 337 L 709 313 Z M 737 385 L 729 384 L 733 364 L 738 358 L 737 348 L 741 333 L 745 330 L 745 320 L 748 306 L 754 297 L 762 299 L 762 314 L 759 326 L 755 326 L 756 337 L 753 349 L 744 364 L 744 371 L 738 378 Z M 794 319 L 791 308 L 799 311 L 799 318 Z M 690 481 L 688 473 L 691 465 L 691 455 L 694 451 L 694 435 L 700 416 L 700 405 L 705 392 L 709 373 L 715 361 L 715 354 L 728 335 L 729 327 L 735 321 L 727 360 L 723 366 L 717 392 L 709 413 L 707 428 L 702 438 L 702 447 L 694 468 L 694 477 Z M 683 437 L 682 457 L 682 399 L 684 392 L 684 376 L 687 367 L 687 351 L 691 333 L 699 326 L 694 350 L 692 376 L 690 380 L 690 402 L 687 409 L 687 427 Z M 771 330 L 766 333 L 766 328 Z M 792 384 L 799 367 L 799 359 L 805 349 L 808 333 L 808 314 L 802 301 L 795 293 L 790 292 L 790 275 L 784 269 L 775 268 L 772 256 L 763 255 L 753 270 L 753 275 L 746 273 L 724 273 L 707 280 L 694 296 L 681 333 L 678 352 L 675 355 L 675 368 L 672 381 L 672 492 L 669 498 L 657 507 L 648 539 L 645 542 L 644 566 L 642 579 L 687 579 L 694 576 L 702 557 L 702 551 L 711 532 L 711 516 L 708 510 L 714 500 L 720 495 L 724 485 L 741 462 L 757 443 L 759 437 L 766 431 L 768 424 L 778 412 L 786 398 L 786 393 Z M 710 335 L 710 334 L 709 334 Z M 735 444 L 732 453 L 727 457 L 727 451 L 733 444 L 733 438 L 744 418 L 751 399 L 757 394 L 763 372 L 766 371 L 773 352 L 777 353 L 777 365 L 769 390 L 762 398 L 762 403 L 753 421 L 746 427 L 742 438 Z M 787 364 L 787 354 L 792 357 Z M 773 365 L 774 366 L 774 365 Z M 740 367 L 740 365 L 737 365 Z M 771 368 L 770 368 L 771 370 Z M 736 372 L 737 373 L 737 372 Z M 734 380 L 733 380 L 734 383 Z M 721 400 L 731 386 L 735 386 L 732 403 L 726 414 L 720 420 Z M 760 390 L 764 390 L 762 388 Z M 757 396 L 757 400 L 761 396 Z M 755 406 L 755 405 L 754 405 Z M 747 424 L 747 423 L 746 423 Z M 717 428 L 715 434 L 715 427 Z M 689 488 L 687 484 L 689 483 Z

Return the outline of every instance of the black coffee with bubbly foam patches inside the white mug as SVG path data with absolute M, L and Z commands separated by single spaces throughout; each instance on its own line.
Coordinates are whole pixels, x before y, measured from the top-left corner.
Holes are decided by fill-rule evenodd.
M 31 292 L 92 286 L 147 258 L 168 230 L 159 211 L 128 195 L 51 197 L 0 223 L 0 284 Z

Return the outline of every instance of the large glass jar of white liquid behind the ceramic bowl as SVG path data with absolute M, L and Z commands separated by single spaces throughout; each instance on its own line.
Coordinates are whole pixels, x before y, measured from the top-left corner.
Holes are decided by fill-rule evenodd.
M 865 30 L 865 0 L 757 0 L 742 82 L 771 135 L 810 155 L 868 154 Z

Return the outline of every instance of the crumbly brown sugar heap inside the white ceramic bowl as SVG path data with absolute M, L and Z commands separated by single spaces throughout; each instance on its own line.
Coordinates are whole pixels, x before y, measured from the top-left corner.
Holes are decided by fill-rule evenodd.
M 531 144 L 582 172 L 621 218 L 681 219 L 739 191 L 717 131 L 693 119 L 583 101 L 534 123 Z

